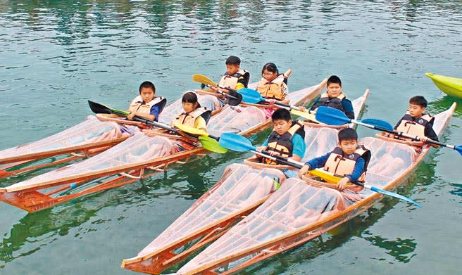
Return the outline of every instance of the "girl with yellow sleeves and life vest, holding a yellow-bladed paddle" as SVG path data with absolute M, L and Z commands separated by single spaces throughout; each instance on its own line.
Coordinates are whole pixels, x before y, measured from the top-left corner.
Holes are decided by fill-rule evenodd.
M 197 95 L 192 91 L 185 93 L 181 99 L 184 112 L 180 113 L 172 125 L 175 123 L 185 124 L 189 127 L 207 131 L 207 122 L 212 113 L 204 107 L 201 107 L 197 101 Z

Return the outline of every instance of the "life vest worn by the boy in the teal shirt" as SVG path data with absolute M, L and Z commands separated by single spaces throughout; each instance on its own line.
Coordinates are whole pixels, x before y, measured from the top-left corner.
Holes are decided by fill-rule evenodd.
M 279 155 L 284 158 L 292 157 L 292 151 L 294 150 L 292 137 L 296 133 L 300 134 L 303 139 L 305 138 L 304 126 L 300 122 L 294 122 L 289 131 L 285 132 L 281 136 L 274 131 L 271 132 L 268 137 L 268 146 L 266 147 L 266 151 L 279 153 Z M 262 162 L 266 164 L 276 164 L 275 161 L 268 160 L 267 158 L 263 158 Z

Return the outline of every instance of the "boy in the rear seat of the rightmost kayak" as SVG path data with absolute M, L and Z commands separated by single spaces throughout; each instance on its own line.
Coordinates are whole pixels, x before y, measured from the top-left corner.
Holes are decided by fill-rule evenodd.
M 424 143 L 428 139 L 438 141 L 438 136 L 433 130 L 435 117 L 425 114 L 427 100 L 423 96 L 413 96 L 409 99 L 408 112 L 394 127 L 398 132 L 418 136 Z M 435 144 L 431 146 L 438 148 Z

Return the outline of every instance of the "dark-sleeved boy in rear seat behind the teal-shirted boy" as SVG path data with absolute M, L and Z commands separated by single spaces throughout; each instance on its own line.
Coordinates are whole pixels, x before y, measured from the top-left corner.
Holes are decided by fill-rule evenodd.
M 332 75 L 327 79 L 327 91 L 316 99 L 310 110 L 316 110 L 319 106 L 336 108 L 354 120 L 353 105 L 346 98 L 346 95 L 342 93 L 342 81 L 336 75 Z

